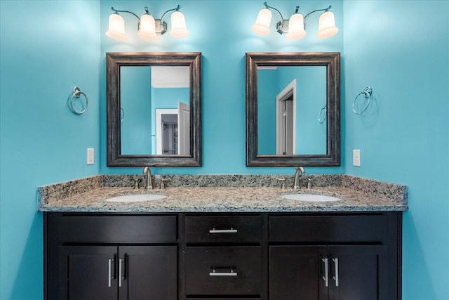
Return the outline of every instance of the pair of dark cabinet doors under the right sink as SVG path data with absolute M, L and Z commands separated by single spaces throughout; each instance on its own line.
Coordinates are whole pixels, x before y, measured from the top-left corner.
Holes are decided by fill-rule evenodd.
M 269 299 L 389 299 L 386 246 L 272 246 Z

